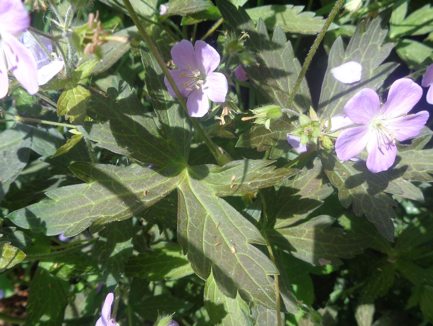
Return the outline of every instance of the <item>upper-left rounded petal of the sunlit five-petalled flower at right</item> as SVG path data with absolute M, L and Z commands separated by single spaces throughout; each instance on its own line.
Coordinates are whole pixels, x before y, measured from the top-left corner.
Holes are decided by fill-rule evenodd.
M 344 106 L 344 112 L 355 124 L 368 124 L 379 110 L 379 96 L 371 88 L 362 88 Z

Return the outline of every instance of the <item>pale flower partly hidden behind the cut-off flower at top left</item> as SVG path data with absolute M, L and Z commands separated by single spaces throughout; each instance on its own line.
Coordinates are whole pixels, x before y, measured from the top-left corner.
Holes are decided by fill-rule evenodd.
M 43 36 L 38 36 L 38 38 L 47 52 L 53 52 L 52 43 L 49 39 Z M 39 86 L 50 81 L 65 66 L 65 62 L 61 57 L 51 59 L 29 32 L 24 32 L 23 43 L 30 49 L 30 51 L 32 51 L 32 54 L 36 59 Z M 55 54 L 52 55 L 55 56 Z

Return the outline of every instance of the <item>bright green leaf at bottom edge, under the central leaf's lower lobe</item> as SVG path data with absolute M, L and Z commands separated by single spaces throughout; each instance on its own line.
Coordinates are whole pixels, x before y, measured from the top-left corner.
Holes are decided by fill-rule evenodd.
M 246 322 L 246 316 L 249 316 L 247 303 L 239 295 L 231 299 L 221 293 L 212 273 L 204 286 L 204 306 L 210 320 L 216 326 L 248 326 Z

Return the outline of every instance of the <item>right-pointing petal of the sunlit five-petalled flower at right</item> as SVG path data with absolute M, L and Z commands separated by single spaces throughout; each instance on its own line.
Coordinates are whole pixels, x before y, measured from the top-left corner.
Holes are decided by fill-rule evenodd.
M 429 113 L 427 111 L 421 111 L 417 114 L 389 119 L 383 124 L 383 127 L 391 131 L 391 135 L 395 139 L 403 141 L 410 137 L 417 136 L 421 132 L 421 129 L 423 129 L 428 118 Z

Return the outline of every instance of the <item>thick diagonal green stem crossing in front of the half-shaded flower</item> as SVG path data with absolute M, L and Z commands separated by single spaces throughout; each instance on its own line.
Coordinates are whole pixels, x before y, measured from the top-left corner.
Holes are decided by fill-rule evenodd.
M 141 34 L 142 38 L 144 39 L 145 43 L 150 49 L 150 52 L 152 52 L 152 55 L 155 57 L 156 61 L 158 62 L 158 65 L 161 67 L 162 72 L 164 72 L 165 77 L 168 80 L 168 83 L 173 88 L 174 93 L 176 94 L 176 97 L 178 98 L 178 101 L 181 103 L 181 106 L 184 108 L 186 114 L 189 117 L 187 105 L 185 103 L 184 98 L 181 95 L 181 92 L 179 91 L 178 86 L 174 82 L 173 77 L 171 77 L 171 74 L 165 65 L 164 60 L 161 58 L 161 55 L 158 52 L 158 49 L 156 49 L 155 45 L 152 42 L 152 39 L 149 37 L 149 35 L 146 33 L 143 24 L 139 20 L 135 10 L 132 8 L 131 2 L 129 0 L 123 0 L 123 3 L 126 7 L 126 10 L 128 10 L 129 16 L 131 16 L 132 21 L 137 26 L 137 29 L 139 33 Z M 223 156 L 223 154 L 218 150 L 218 148 L 215 146 L 215 144 L 210 140 L 210 138 L 207 136 L 206 132 L 204 131 L 203 127 L 200 125 L 200 123 L 196 120 L 190 117 L 191 123 L 193 127 L 198 131 L 200 136 L 203 138 L 204 143 L 209 147 L 210 152 L 215 157 L 217 161 L 219 161 L 220 156 Z

